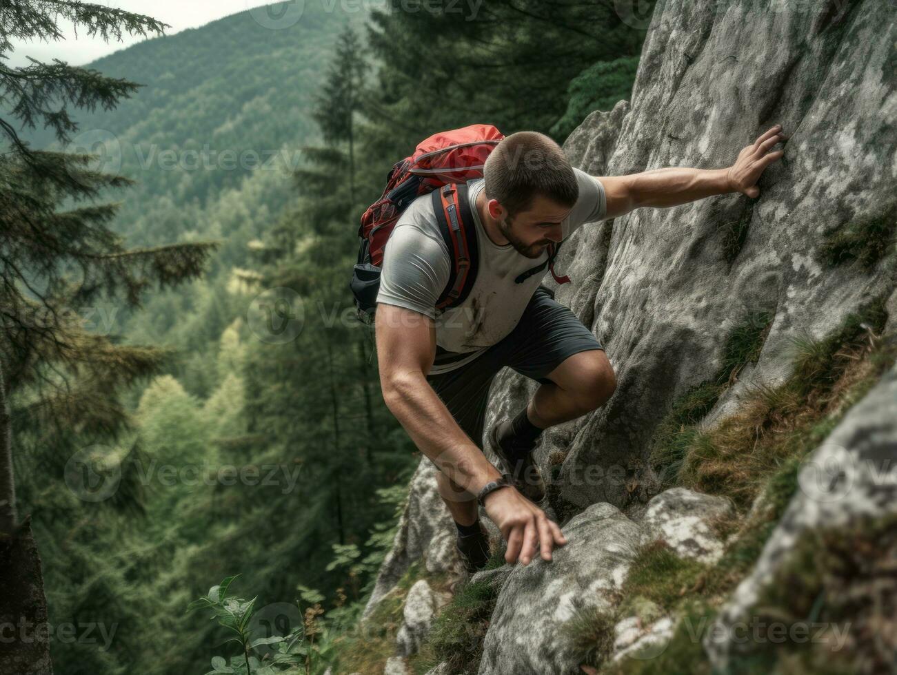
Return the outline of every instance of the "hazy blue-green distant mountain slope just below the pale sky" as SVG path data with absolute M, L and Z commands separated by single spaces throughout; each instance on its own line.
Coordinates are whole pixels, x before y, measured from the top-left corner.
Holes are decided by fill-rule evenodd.
M 268 213 L 292 197 L 282 172 L 256 174 L 294 166 L 298 148 L 316 142 L 309 110 L 324 65 L 339 30 L 360 26 L 367 13 L 320 3 L 303 5 L 296 16 L 275 9 L 257 7 L 146 39 L 84 66 L 144 85 L 111 110 L 70 109 L 79 130 L 65 148 L 97 153 L 99 169 L 139 182 L 109 195 L 123 201 L 117 222 L 129 244 L 232 234 L 235 224 L 216 226 L 205 210 L 214 211 L 222 195 L 246 181 L 257 184 L 249 193 Z M 36 148 L 58 147 L 48 130 L 22 136 Z M 251 211 L 255 204 L 246 206 Z

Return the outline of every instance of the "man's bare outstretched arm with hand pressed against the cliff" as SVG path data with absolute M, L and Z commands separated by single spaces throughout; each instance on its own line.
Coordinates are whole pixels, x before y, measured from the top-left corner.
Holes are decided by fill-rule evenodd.
M 784 151 L 771 151 L 787 140 L 781 125 L 773 126 L 738 154 L 727 169 L 654 169 L 629 176 L 597 177 L 605 187 L 605 218 L 617 218 L 644 206 L 668 209 L 704 197 L 740 192 L 760 195 L 757 181 Z

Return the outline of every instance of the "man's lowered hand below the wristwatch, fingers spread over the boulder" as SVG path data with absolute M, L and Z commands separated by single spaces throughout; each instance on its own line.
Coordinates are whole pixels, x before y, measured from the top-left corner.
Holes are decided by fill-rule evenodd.
M 528 565 L 536 550 L 541 550 L 542 559 L 551 560 L 554 547 L 567 543 L 558 524 L 513 486 L 493 490 L 483 499 L 483 504 L 486 515 L 508 541 L 505 562 L 511 565 L 518 558 Z

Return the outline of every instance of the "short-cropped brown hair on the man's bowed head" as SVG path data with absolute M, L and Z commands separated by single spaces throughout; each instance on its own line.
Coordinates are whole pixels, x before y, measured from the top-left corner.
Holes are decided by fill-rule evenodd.
M 536 195 L 572 207 L 579 183 L 561 147 L 545 134 L 518 131 L 495 146 L 483 167 L 487 199 L 510 216 L 526 211 Z

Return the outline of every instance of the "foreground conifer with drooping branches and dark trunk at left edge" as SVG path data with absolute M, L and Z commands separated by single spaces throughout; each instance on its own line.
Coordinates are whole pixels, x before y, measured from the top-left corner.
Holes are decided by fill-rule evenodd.
M 59 17 L 107 41 L 123 31 L 145 36 L 167 27 L 99 4 L 0 4 L 0 101 L 11 111 L 0 118 L 6 150 L 0 153 L 0 568 L 8 574 L 0 621 L 14 625 L 46 622 L 47 608 L 29 518 L 20 520 L 16 507 L 13 432 L 39 429 L 49 454 L 75 436 L 95 442 L 128 428 L 116 394 L 159 372 L 166 352 L 91 333 L 79 312 L 116 297 L 139 307 L 153 284 L 196 278 L 215 246 L 127 248 L 107 227 L 120 203 L 93 202 L 133 181 L 93 166 L 90 154 L 34 150 L 15 130 L 13 120 L 31 129 L 42 122 L 65 146 L 78 130 L 66 105 L 115 108 L 139 87 L 58 59 L 4 65 L 13 38 L 60 39 Z M 51 672 L 48 642 L 20 639 L 5 647 L 0 671 Z

